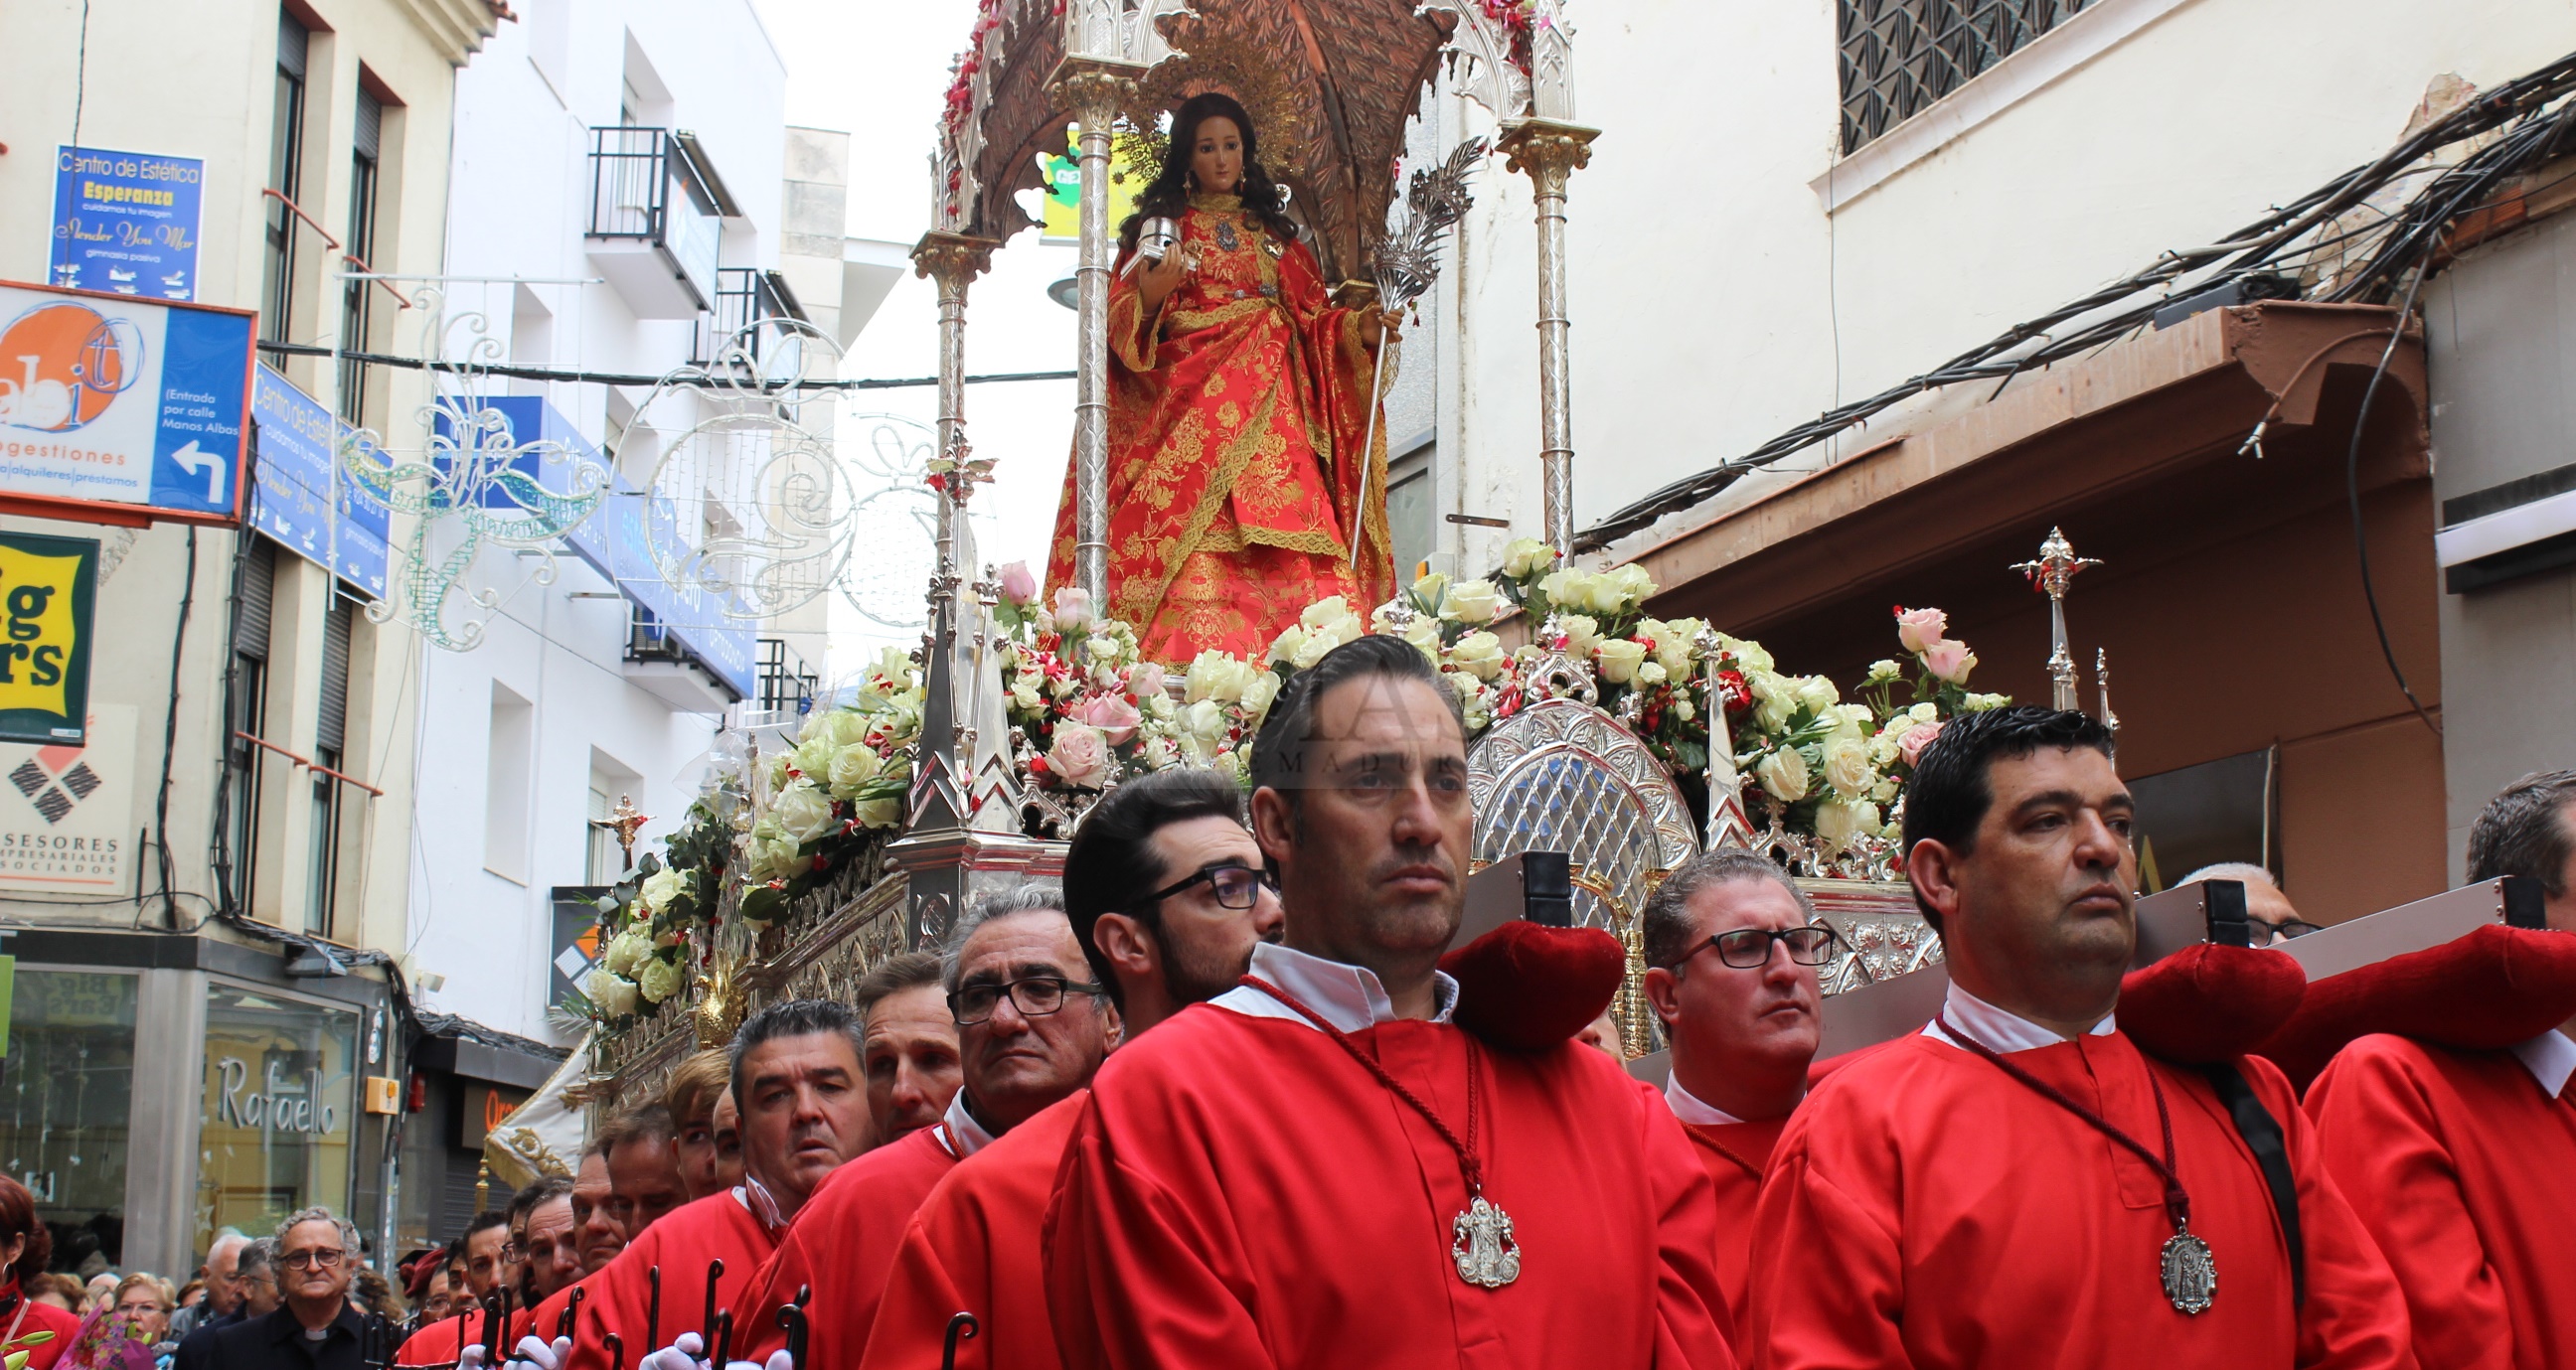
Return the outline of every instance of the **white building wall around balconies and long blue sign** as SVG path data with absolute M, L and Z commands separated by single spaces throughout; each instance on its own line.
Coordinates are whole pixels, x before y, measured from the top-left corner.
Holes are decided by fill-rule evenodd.
M 497 281 L 451 283 L 451 299 L 484 312 L 513 363 L 662 376 L 693 358 L 696 319 L 639 319 L 611 283 L 556 283 L 600 276 L 585 245 L 590 129 L 641 98 L 639 124 L 693 131 L 742 209 L 724 221 L 721 265 L 773 268 L 786 67 L 750 0 L 526 0 L 518 15 L 459 72 L 448 273 Z M 611 394 L 621 420 L 647 399 L 647 386 L 569 381 L 489 389 L 541 394 L 595 446 L 611 435 Z M 665 402 L 652 420 L 675 430 L 696 412 Z M 649 476 L 644 448 L 626 448 L 629 482 Z M 569 551 L 551 587 L 528 582 L 528 567 L 487 554 L 484 585 L 515 587 L 487 641 L 422 664 L 410 945 L 417 971 L 443 976 L 430 1007 L 551 1038 L 549 891 L 587 883 L 592 773 L 616 780 L 611 803 L 631 793 L 652 814 L 644 847 L 688 814 L 719 713 L 626 675 L 629 605 L 605 577 Z M 526 700 L 526 755 L 505 713 L 495 747 L 497 690 Z M 526 829 L 492 832 L 495 809 L 523 814 Z

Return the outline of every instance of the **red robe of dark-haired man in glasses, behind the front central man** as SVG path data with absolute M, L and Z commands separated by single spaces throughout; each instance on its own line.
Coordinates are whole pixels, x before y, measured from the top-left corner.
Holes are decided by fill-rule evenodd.
M 1046 1316 L 1041 1228 L 1087 1097 L 1041 1110 L 930 1190 L 886 1275 L 860 1370 L 940 1370 L 956 1313 L 979 1324 L 971 1342 L 958 1342 L 958 1370 L 1064 1365 Z

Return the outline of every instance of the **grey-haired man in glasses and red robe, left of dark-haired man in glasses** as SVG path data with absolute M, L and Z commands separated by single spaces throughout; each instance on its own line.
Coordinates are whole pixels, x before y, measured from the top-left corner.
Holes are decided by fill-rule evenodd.
M 809 1365 L 858 1365 L 886 1270 L 930 1187 L 1100 1069 L 1118 1043 L 1118 1009 L 1087 971 L 1056 886 L 1020 886 L 958 919 L 940 973 L 963 1087 L 938 1125 L 835 1174 L 760 1275 L 752 1306 L 765 1326 L 775 1326 L 775 1311 L 799 1290 L 811 1290 Z M 783 1339 L 765 1331 L 752 1360 Z

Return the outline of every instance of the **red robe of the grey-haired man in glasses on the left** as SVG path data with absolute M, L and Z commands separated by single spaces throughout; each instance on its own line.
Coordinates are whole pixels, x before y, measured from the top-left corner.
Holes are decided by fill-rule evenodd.
M 739 1360 L 768 1360 L 786 1344 L 778 1311 L 796 1303 L 804 1285 L 814 1290 L 806 1303 L 814 1311 L 806 1318 L 806 1365 L 858 1365 L 894 1249 L 930 1187 L 958 1164 L 940 1138 L 943 1128 L 945 1123 L 909 1133 L 824 1177 L 752 1285 L 750 1306 L 760 1311 L 760 1331 L 747 1342 L 734 1339 L 744 1347 Z

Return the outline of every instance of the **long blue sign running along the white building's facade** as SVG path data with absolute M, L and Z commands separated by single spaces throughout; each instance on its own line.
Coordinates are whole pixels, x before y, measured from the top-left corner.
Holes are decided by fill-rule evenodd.
M 495 394 L 482 407 L 497 412 L 507 425 L 510 443 L 562 443 L 572 461 L 546 461 L 544 453 L 520 453 L 510 466 L 536 484 L 562 492 L 580 464 L 611 466 L 600 448 L 582 438 L 554 404 L 533 394 Z M 448 440 L 471 443 L 471 425 L 438 415 L 438 433 Z M 497 487 L 484 487 L 487 507 L 510 507 L 513 500 Z M 613 479 L 608 500 L 564 536 L 572 551 L 590 561 L 631 603 L 649 610 L 665 631 L 688 644 L 726 688 L 750 698 L 755 688 L 760 633 L 750 618 L 739 618 L 739 605 L 729 597 L 708 595 L 698 587 L 675 590 L 662 582 L 652 549 L 690 546 L 696 538 L 680 533 L 677 515 L 662 500 L 649 500 L 623 479 Z

